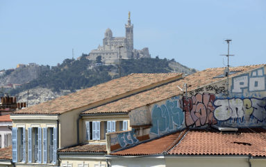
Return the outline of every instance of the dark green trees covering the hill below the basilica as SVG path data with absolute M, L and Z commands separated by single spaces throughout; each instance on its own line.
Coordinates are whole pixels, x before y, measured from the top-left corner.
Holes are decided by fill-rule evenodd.
M 10 90 L 10 94 L 15 95 L 31 88 L 51 88 L 56 92 L 60 90 L 74 92 L 77 89 L 90 88 L 118 78 L 117 73 L 110 73 L 111 70 L 118 69 L 118 65 L 97 65 L 88 69 L 89 65 L 95 64 L 95 62 L 86 59 L 85 56 L 87 55 L 83 54 L 80 61 L 67 58 L 63 63 L 58 63 L 57 66 L 51 68 L 47 65 L 49 70 L 42 72 L 38 79 L 23 84 L 21 88 Z M 99 61 L 101 61 L 101 56 L 97 57 L 97 62 Z M 131 73 L 163 73 L 173 70 L 168 66 L 170 61 L 167 58 L 160 59 L 158 56 L 156 58 L 141 58 L 140 60 L 128 59 L 121 62 L 122 77 Z

